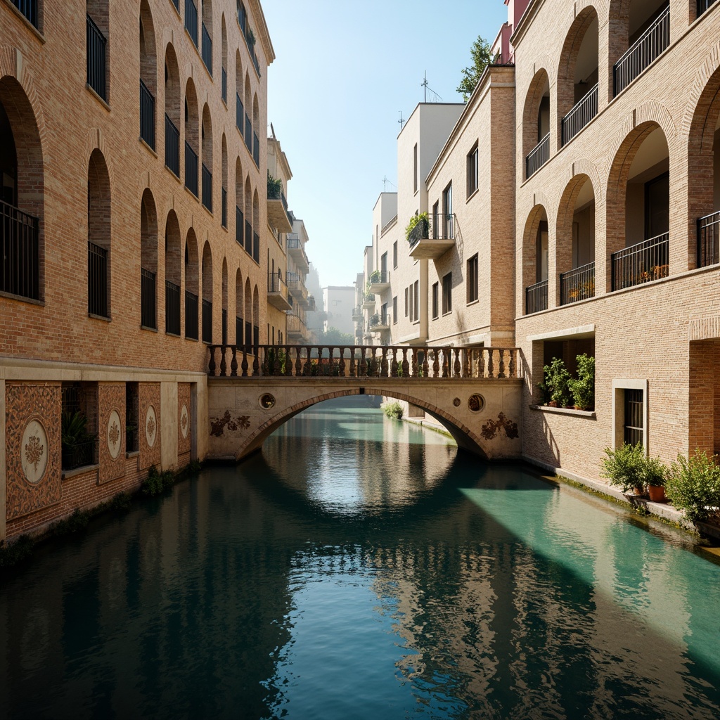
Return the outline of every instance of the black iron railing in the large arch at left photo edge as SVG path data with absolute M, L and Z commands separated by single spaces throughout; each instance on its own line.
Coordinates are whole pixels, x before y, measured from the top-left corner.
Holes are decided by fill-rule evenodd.
M 0 200 L 0 291 L 40 300 L 40 220 Z

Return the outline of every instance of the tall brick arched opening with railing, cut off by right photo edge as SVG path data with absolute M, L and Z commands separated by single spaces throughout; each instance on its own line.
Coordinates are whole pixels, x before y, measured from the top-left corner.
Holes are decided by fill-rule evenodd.
M 720 262 L 720 68 L 703 88 L 688 135 L 688 267 Z

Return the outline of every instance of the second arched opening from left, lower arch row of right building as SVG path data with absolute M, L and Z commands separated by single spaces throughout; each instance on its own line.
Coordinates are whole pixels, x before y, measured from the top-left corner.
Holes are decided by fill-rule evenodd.
M 587 175 L 575 176 L 560 199 L 555 266 L 560 305 L 595 297 L 595 190 Z

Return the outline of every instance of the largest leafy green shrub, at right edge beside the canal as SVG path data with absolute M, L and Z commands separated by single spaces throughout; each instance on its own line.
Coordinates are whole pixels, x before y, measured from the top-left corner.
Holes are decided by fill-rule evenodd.
M 665 495 L 678 510 L 685 510 L 688 520 L 707 520 L 720 508 L 720 467 L 716 455 L 696 450 L 685 458 L 678 454 L 665 484 Z

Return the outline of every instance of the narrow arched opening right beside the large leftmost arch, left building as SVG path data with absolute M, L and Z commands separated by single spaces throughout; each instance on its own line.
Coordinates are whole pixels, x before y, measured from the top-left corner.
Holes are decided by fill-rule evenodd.
M 100 150 L 88 164 L 88 313 L 110 317 L 110 176 Z

